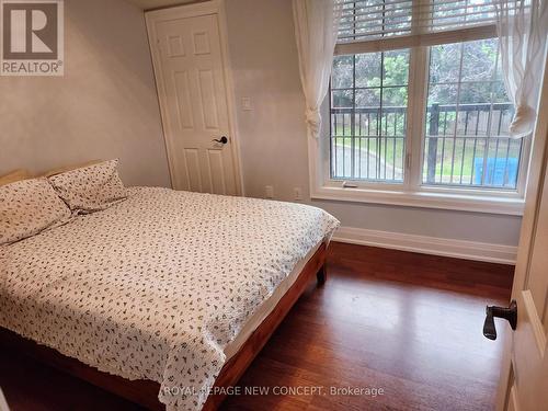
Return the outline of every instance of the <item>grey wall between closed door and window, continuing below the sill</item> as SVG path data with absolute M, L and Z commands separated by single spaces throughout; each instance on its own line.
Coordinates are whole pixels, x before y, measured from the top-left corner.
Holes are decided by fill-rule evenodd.
M 300 89 L 290 0 L 227 0 L 228 38 L 236 98 L 251 98 L 253 111 L 237 107 L 243 180 L 249 196 L 308 198 L 305 103 Z M 517 244 L 521 218 L 343 202 L 310 202 L 344 226 L 499 244 Z

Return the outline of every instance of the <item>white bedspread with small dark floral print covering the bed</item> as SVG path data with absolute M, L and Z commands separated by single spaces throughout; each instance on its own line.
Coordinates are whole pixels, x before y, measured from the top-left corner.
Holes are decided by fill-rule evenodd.
M 339 221 L 290 203 L 132 189 L 0 248 L 0 326 L 197 410 L 225 346 Z

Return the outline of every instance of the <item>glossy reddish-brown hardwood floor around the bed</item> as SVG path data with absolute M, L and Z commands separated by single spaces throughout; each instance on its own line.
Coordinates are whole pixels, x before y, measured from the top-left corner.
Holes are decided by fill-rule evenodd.
M 491 410 L 502 343 L 481 333 L 484 306 L 507 302 L 512 273 L 332 243 L 326 285 L 310 285 L 240 380 L 242 391 L 269 393 L 229 397 L 221 410 Z M 12 411 L 138 409 L 7 352 L 0 387 Z M 384 393 L 332 395 L 336 388 Z M 278 395 L 286 389 L 297 392 Z

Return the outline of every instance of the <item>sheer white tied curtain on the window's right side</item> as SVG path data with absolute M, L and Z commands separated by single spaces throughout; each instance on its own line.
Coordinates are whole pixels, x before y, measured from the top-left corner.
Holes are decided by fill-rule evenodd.
M 496 0 L 502 72 L 515 105 L 511 137 L 533 133 L 545 65 L 548 0 Z

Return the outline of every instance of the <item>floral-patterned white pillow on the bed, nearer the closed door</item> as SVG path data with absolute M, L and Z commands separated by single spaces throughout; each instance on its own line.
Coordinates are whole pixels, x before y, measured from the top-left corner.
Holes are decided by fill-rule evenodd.
M 53 175 L 49 181 L 73 213 L 99 212 L 127 197 L 118 160 L 109 160 Z

